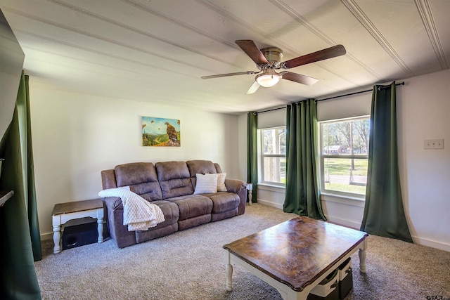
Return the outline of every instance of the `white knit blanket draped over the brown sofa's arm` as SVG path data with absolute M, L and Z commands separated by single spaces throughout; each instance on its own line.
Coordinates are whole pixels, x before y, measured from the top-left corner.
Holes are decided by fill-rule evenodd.
M 164 222 L 164 214 L 158 205 L 148 202 L 143 197 L 129 190 L 129 186 L 108 188 L 98 193 L 99 197 L 120 197 L 124 205 L 124 225 L 128 231 L 147 230 Z

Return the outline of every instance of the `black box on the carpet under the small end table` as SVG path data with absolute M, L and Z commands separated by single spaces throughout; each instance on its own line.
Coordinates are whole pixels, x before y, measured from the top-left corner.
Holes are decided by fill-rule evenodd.
M 97 223 L 67 226 L 63 232 L 63 250 L 98 242 Z

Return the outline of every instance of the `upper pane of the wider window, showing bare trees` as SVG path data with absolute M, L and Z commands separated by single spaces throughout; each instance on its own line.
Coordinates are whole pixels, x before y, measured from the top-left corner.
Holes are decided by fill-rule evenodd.
M 368 133 L 368 119 L 323 123 L 323 155 L 367 155 Z

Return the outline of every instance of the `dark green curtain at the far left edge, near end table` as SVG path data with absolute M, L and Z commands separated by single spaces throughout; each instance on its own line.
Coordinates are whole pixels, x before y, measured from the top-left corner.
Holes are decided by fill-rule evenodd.
M 28 77 L 22 73 L 13 120 L 0 141 L 0 189 L 14 195 L 0 208 L 1 299 L 41 299 L 34 261 L 42 259 L 30 131 Z

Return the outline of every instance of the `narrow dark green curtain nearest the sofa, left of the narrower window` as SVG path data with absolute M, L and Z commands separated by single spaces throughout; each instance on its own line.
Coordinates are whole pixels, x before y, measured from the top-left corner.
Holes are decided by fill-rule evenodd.
M 253 184 L 252 202 L 257 202 L 258 183 L 258 143 L 257 143 L 258 115 L 256 112 L 247 114 L 247 182 Z

